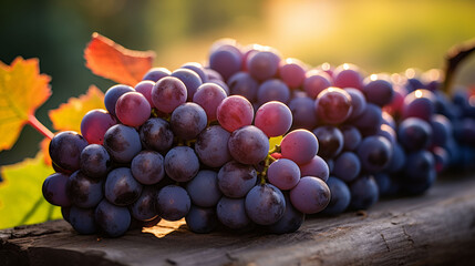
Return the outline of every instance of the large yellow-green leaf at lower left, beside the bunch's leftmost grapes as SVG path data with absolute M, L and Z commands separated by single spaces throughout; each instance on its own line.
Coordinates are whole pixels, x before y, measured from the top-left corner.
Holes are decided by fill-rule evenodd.
M 34 158 L 0 167 L 0 229 L 61 218 L 61 208 L 49 204 L 41 192 L 44 178 L 54 173 L 39 152 Z

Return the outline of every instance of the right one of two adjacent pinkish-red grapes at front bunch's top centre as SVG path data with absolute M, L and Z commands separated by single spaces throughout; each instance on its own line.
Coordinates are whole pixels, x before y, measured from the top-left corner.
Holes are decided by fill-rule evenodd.
M 269 137 L 283 135 L 292 125 L 292 112 L 281 102 L 267 102 L 257 110 L 254 124 Z

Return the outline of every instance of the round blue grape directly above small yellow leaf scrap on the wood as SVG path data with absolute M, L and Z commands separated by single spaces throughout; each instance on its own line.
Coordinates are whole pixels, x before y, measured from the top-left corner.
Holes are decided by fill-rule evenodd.
M 156 208 L 162 218 L 178 221 L 188 214 L 190 207 L 192 201 L 185 188 L 177 185 L 167 185 L 158 191 Z

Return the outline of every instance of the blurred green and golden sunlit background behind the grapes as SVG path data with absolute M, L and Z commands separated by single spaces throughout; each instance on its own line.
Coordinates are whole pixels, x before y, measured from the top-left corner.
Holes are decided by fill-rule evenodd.
M 475 37 L 473 0 L 3 0 L 0 60 L 39 58 L 52 76 L 48 110 L 96 84 L 113 83 L 85 66 L 83 49 L 94 31 L 134 50 L 154 50 L 155 64 L 171 70 L 205 62 L 219 38 L 272 45 L 310 65 L 355 63 L 371 72 L 443 68 L 454 44 Z M 475 59 L 462 65 L 458 83 L 475 83 Z M 1 137 L 1 136 L 0 136 Z M 0 165 L 34 156 L 42 136 L 25 126 Z

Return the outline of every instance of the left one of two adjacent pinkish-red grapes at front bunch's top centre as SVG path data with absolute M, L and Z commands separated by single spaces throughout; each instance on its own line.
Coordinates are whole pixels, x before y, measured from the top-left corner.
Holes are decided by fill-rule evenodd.
M 250 125 L 254 120 L 252 104 L 246 98 L 239 95 L 228 96 L 223 100 L 216 113 L 219 124 L 229 132 Z

